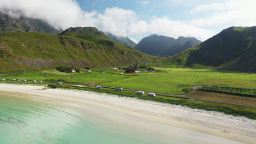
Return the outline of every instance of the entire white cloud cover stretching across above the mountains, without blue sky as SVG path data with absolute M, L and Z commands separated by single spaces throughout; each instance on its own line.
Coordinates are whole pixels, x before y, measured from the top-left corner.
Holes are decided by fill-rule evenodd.
M 185 1 L 187 0 L 179 0 L 179 2 Z M 143 2 L 148 3 L 148 1 Z M 214 28 L 209 27 L 256 25 L 254 0 L 233 0 L 199 5 L 190 11 L 194 17 L 199 14 L 198 18 L 186 21 L 172 20 L 168 16 L 151 17 L 146 21 L 141 19 L 135 11 L 120 8 L 106 8 L 103 13 L 88 12 L 82 10 L 74 0 L 26 0 L 26 3 L 20 0 L 0 0 L 0 3 L 0 11 L 13 17 L 25 15 L 38 18 L 62 29 L 94 26 L 101 31 L 119 36 L 156 33 L 174 38 L 184 36 L 206 40 L 216 34 L 215 31 L 209 30 Z M 211 15 L 204 18 L 200 17 L 201 13 Z

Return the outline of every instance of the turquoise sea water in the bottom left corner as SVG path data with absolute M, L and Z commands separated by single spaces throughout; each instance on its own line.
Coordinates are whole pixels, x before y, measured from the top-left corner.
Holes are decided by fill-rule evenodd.
M 1 144 L 169 142 L 82 111 L 0 95 Z

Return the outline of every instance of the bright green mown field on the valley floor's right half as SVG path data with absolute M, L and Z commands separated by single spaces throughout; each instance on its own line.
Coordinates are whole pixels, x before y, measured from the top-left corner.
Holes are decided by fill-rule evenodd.
M 207 69 L 156 68 L 156 70 L 165 70 L 165 72 L 127 74 L 129 76 L 127 79 L 113 83 L 103 82 L 101 85 L 171 94 L 183 94 L 183 88 L 193 85 L 256 88 L 256 74 Z

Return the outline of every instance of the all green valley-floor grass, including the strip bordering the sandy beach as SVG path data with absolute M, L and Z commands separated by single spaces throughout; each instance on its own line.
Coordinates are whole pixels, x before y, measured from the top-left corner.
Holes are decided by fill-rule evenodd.
M 27 79 L 30 81 L 0 81 L 5 83 L 16 84 L 34 84 L 34 85 L 55 85 L 56 82 L 64 80 L 64 85 L 56 85 L 59 88 L 81 89 L 85 91 L 103 92 L 109 94 L 118 94 L 124 97 L 133 97 L 143 100 L 153 100 L 162 103 L 188 106 L 193 109 L 203 109 L 208 111 L 219 111 L 234 116 L 246 116 L 256 119 L 255 107 L 247 107 L 240 105 L 231 105 L 223 103 L 214 103 L 210 101 L 191 100 L 184 98 L 167 97 L 156 95 L 156 97 L 148 97 L 147 95 L 138 95 L 135 92 L 122 91 L 118 92 L 111 88 L 96 89 L 95 86 L 76 87 L 70 82 L 96 83 L 106 86 L 122 87 L 138 89 L 141 91 L 161 92 L 171 94 L 182 94 L 183 88 L 193 85 L 217 85 L 238 88 L 256 88 L 256 74 L 235 73 L 218 70 L 207 69 L 179 69 L 179 68 L 156 68 L 164 71 L 163 73 L 141 73 L 141 74 L 119 74 L 122 70 L 116 71 L 112 68 L 97 68 L 95 70 L 105 70 L 107 73 L 92 71 L 87 73 L 61 73 L 57 70 L 31 71 L 27 73 L 16 73 L 0 75 L 0 79 Z M 92 69 L 94 70 L 94 69 Z M 48 76 L 45 76 L 48 75 Z M 74 77 L 74 78 L 71 78 Z M 33 83 L 31 80 L 43 80 L 43 83 Z M 245 85 L 246 83 L 246 85 Z M 198 95 L 197 95 L 198 96 Z M 234 96 L 237 98 L 237 96 Z M 219 97 L 218 97 L 219 98 Z M 248 99 L 248 98 L 247 98 Z M 250 98 L 255 99 L 255 98 Z

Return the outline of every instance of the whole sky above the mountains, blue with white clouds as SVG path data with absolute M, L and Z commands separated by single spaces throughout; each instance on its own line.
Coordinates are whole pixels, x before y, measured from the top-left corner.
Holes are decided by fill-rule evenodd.
M 206 40 L 231 26 L 256 26 L 255 0 L 0 0 L 0 11 L 56 28 L 96 27 L 135 42 L 150 34 Z

